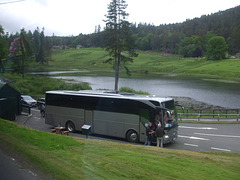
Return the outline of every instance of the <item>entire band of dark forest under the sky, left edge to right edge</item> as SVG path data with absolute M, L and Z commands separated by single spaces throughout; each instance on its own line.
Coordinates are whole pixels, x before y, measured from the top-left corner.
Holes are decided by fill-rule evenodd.
M 240 58 L 240 6 L 183 23 L 159 26 L 141 23 L 131 24 L 130 28 L 137 50 L 157 51 L 164 55 L 179 54 L 183 57 L 205 56 L 208 59 L 225 59 L 226 54 L 238 54 L 237 58 Z M 102 47 L 105 43 L 104 31 L 99 25 L 95 33 L 78 36 L 45 36 L 44 28 L 36 28 L 34 32 L 22 29 L 20 33 L 9 35 L 0 24 L 0 59 L 8 58 L 9 53 L 19 56 L 22 52 L 24 56 L 34 55 L 37 62 L 45 63 L 51 59 L 51 50 L 54 48 Z M 19 36 L 28 44 L 28 52 L 15 47 Z M 211 52 L 216 51 L 213 48 L 217 45 L 217 51 L 222 54 Z M 16 49 L 18 51 L 15 52 Z

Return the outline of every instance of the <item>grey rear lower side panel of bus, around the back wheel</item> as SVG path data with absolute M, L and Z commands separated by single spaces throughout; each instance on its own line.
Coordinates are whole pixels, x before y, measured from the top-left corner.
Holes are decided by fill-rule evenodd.
M 84 124 L 84 110 L 76 108 L 66 108 L 57 106 L 47 106 L 45 122 L 51 122 L 51 125 L 65 126 L 67 121 L 72 121 L 75 129 L 82 130 Z

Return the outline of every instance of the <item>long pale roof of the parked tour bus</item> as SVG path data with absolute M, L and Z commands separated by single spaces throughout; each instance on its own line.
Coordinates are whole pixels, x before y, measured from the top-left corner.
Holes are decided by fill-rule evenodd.
M 137 95 L 129 92 L 114 92 L 114 91 L 93 91 L 93 90 L 81 90 L 81 91 L 69 91 L 69 90 L 56 90 L 47 91 L 46 94 L 61 94 L 61 95 L 76 95 L 76 96 L 89 96 L 89 97 L 106 97 L 106 98 L 119 98 L 119 99 L 132 99 L 132 100 L 151 100 L 158 102 L 171 101 L 170 97 L 157 97 L 155 95 Z

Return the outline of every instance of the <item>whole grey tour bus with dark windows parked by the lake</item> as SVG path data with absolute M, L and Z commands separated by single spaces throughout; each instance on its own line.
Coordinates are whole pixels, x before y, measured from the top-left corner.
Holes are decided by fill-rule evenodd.
M 172 98 L 103 91 L 47 91 L 45 123 L 70 132 L 91 127 L 92 134 L 144 142 L 146 126 L 156 128 L 156 114 L 164 126 L 164 143 L 178 136 L 177 112 Z M 164 115 L 169 116 L 165 122 Z

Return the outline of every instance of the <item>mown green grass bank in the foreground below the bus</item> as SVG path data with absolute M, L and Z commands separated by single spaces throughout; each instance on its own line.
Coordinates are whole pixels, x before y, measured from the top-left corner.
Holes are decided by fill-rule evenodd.
M 55 179 L 239 179 L 240 154 L 60 136 L 0 120 L 0 144 Z

